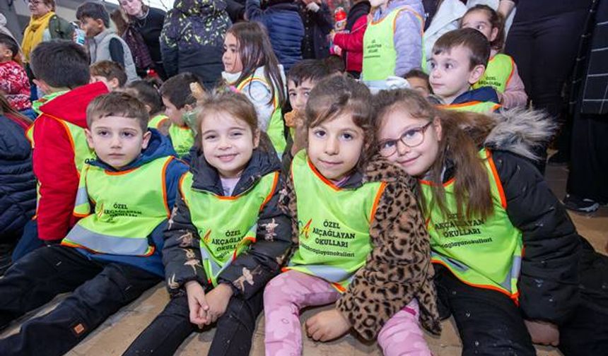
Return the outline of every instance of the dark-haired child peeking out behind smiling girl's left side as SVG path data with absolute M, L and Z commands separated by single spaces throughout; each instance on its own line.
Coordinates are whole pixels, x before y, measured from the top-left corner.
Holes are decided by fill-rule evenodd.
M 196 133 L 189 126 L 197 99 L 192 95 L 190 84 L 201 85 L 200 79 L 192 73 L 180 73 L 169 78 L 160 86 L 160 97 L 165 105 L 165 115 L 171 121 L 169 138 L 178 157 L 184 157 L 194 145 Z

